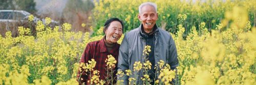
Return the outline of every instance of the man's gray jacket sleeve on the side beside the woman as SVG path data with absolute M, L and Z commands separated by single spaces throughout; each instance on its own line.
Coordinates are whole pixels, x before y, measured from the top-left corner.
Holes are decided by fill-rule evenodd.
M 129 54 L 129 44 L 127 42 L 127 35 L 124 36 L 122 43 L 119 48 L 119 55 L 118 55 L 118 65 L 117 71 L 123 71 L 124 75 L 121 77 L 117 74 L 117 80 L 123 80 L 123 84 L 128 84 L 128 76 L 125 75 L 125 70 L 129 69 L 128 63 L 128 54 Z

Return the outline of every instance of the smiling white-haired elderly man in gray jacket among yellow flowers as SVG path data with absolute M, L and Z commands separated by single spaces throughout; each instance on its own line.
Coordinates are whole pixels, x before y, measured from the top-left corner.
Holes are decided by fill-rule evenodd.
M 179 65 L 177 49 L 172 36 L 156 25 L 158 19 L 156 4 L 150 2 L 141 4 L 139 6 L 138 18 L 141 21 L 140 26 L 126 33 L 120 45 L 117 68 L 118 71 L 123 72 L 127 69 L 133 71 L 135 62 L 144 61 L 142 55 L 144 46 L 150 45 L 151 52 L 146 59 L 151 62 L 152 68 L 147 73 L 150 74 L 150 78 L 153 80 L 151 84 L 154 84 L 154 79 L 156 79 L 156 70 L 154 68 L 157 62 L 162 60 L 169 64 L 173 70 Z M 136 79 L 136 84 L 142 84 L 141 77 L 143 76 L 143 71 L 134 74 L 138 76 L 117 76 L 118 80 L 123 80 L 123 84 L 128 84 L 130 77 Z M 159 73 L 156 75 L 158 76 Z M 173 81 L 175 80 L 173 79 Z

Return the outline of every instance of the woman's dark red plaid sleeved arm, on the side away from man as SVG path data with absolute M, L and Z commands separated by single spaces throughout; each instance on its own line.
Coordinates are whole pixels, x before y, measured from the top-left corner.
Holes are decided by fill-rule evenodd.
M 81 56 L 81 60 L 80 60 L 80 64 L 81 63 L 87 63 L 89 58 L 90 57 L 90 53 L 91 53 L 91 46 L 90 44 L 87 44 L 86 46 L 86 49 L 84 49 L 83 53 L 82 53 L 82 56 Z M 79 82 L 79 84 L 82 84 L 84 82 L 84 84 L 87 84 L 87 81 L 88 81 L 88 76 L 86 74 L 86 71 L 84 71 L 84 69 L 82 69 L 82 67 L 79 67 L 81 68 L 81 71 L 79 71 L 78 69 L 78 72 L 77 72 L 77 81 Z

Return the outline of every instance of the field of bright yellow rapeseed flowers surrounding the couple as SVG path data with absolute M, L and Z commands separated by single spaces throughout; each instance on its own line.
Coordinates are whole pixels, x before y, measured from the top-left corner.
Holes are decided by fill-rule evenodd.
M 92 25 L 93 34 L 71 32 L 69 23 L 50 28 L 49 23 L 39 21 L 36 36 L 24 27 L 18 27 L 18 37 L 11 37 L 11 32 L 0 36 L 0 84 L 78 84 L 81 53 L 87 43 L 103 37 L 104 21 L 121 18 L 124 32 L 128 32 L 140 24 L 138 6 L 143 2 L 146 0 L 96 3 L 91 23 L 86 23 Z M 255 1 L 151 2 L 158 5 L 158 26 L 176 42 L 178 84 L 256 83 Z

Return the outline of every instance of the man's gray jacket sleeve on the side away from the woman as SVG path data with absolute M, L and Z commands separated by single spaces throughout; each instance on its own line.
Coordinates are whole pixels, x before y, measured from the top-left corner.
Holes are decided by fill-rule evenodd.
M 175 70 L 175 79 L 172 80 L 172 84 L 178 84 L 178 74 L 177 74 L 177 66 L 179 66 L 179 61 L 178 61 L 178 54 L 177 54 L 177 49 L 176 49 L 176 45 L 175 42 L 172 38 L 172 36 L 170 37 L 170 41 L 169 41 L 169 55 L 168 55 L 168 64 L 170 65 L 170 68 L 172 70 Z

